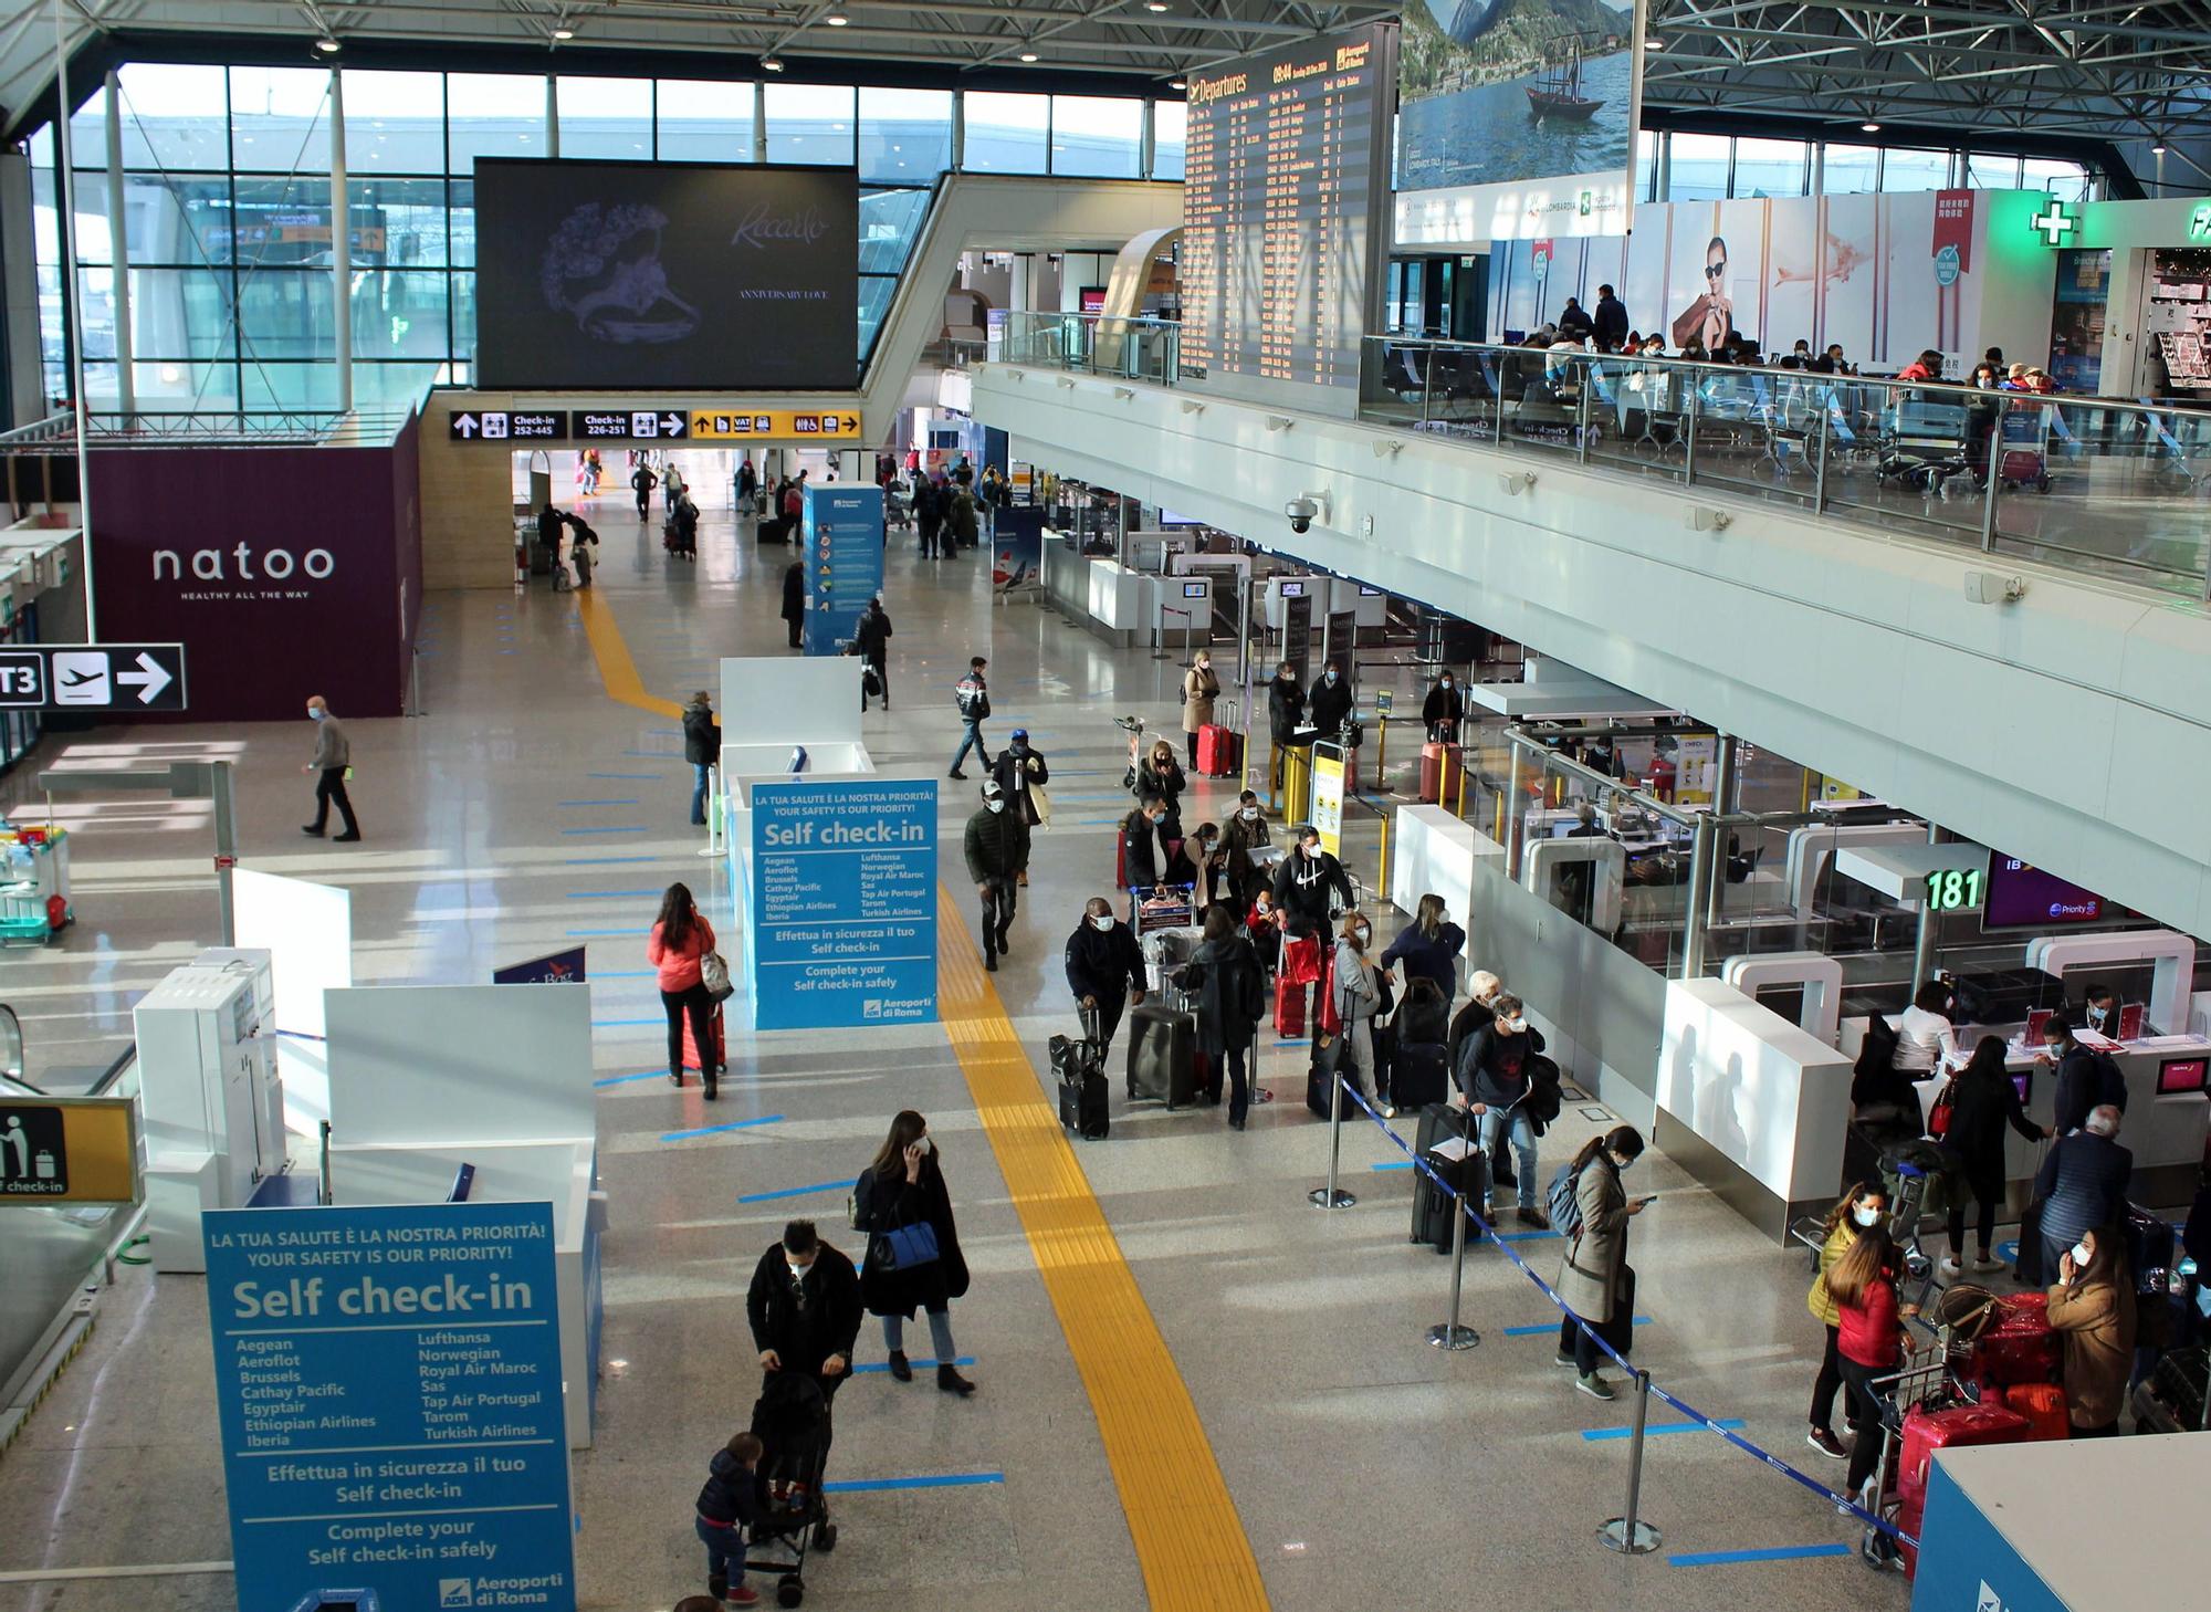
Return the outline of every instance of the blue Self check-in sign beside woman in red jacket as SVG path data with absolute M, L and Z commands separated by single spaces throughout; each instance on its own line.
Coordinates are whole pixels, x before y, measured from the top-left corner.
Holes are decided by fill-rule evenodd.
M 820 1030 L 937 1017 L 937 785 L 752 785 L 754 1024 Z

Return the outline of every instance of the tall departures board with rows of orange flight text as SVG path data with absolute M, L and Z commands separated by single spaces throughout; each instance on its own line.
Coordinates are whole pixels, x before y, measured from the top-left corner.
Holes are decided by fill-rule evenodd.
M 1386 261 L 1395 86 L 1393 22 L 1190 75 L 1185 378 L 1258 400 L 1355 398 Z

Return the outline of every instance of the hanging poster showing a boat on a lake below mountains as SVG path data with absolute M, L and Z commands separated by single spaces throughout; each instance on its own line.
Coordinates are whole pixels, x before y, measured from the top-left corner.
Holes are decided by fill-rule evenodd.
M 1413 0 L 1397 69 L 1397 239 L 1627 230 L 1638 15 L 1605 0 Z

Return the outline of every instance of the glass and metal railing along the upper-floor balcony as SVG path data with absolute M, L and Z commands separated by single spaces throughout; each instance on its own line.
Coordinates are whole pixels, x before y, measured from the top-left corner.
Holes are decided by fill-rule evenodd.
M 999 356 L 1185 385 L 1152 318 L 1008 314 Z M 2211 599 L 2198 409 L 1369 336 L 1360 420 Z

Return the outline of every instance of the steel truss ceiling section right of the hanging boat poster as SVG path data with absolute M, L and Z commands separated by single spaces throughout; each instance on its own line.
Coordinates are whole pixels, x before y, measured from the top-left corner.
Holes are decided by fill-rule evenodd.
M 1643 100 L 2005 135 L 2211 135 L 2211 4 L 1652 0 Z

